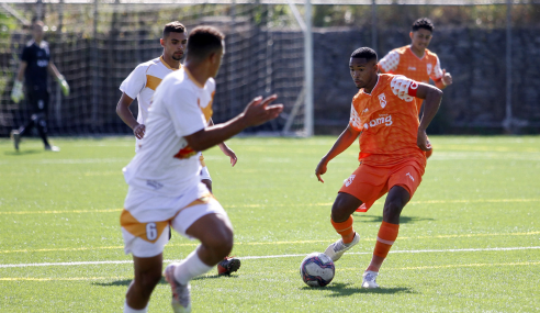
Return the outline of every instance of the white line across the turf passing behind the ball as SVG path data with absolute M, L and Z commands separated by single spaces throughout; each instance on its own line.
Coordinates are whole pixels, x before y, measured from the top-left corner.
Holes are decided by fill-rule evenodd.
M 480 249 L 436 249 L 436 250 L 395 250 L 391 254 L 424 254 L 424 253 L 469 253 L 469 251 L 508 251 L 508 250 L 530 250 L 540 249 L 540 247 L 508 247 L 508 248 L 480 248 Z M 348 255 L 368 255 L 369 253 L 348 253 Z M 252 257 L 238 257 L 239 259 L 271 259 L 271 258 L 290 258 L 290 257 L 304 257 L 301 255 L 275 255 L 275 256 L 252 256 Z M 178 260 L 164 260 L 164 262 L 172 262 Z M 116 260 L 116 261 L 72 261 L 72 262 L 37 262 L 37 264 L 5 264 L 0 265 L 0 268 L 12 267 L 38 267 L 38 266 L 76 266 L 76 265 L 105 265 L 105 264 L 133 264 L 132 260 Z

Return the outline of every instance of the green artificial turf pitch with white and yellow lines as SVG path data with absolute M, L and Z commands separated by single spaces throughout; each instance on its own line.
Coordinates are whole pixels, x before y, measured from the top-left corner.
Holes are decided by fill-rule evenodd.
M 193 280 L 194 312 L 540 310 L 540 137 L 431 136 L 434 156 L 402 214 L 379 290 L 360 284 L 382 200 L 355 213 L 361 242 L 336 262 L 328 287 L 308 288 L 299 276 L 305 255 L 338 238 L 330 206 L 358 166 L 353 144 L 317 182 L 315 166 L 335 139 L 235 138 L 227 142 L 238 156 L 234 168 L 218 148 L 204 153 L 235 227 L 233 254 L 252 258 L 230 278 L 213 269 Z M 134 139 L 53 143 L 60 153 L 45 153 L 37 139 L 24 139 L 15 153 L 0 141 L 0 311 L 121 312 L 133 278 L 119 225 L 127 190 L 122 167 Z M 181 259 L 195 245 L 173 234 L 165 259 Z M 98 264 L 5 267 L 83 261 Z M 170 312 L 169 303 L 161 281 L 149 311 Z

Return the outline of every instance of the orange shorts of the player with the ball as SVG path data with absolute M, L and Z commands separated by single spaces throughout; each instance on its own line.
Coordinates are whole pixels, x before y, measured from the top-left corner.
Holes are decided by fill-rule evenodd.
M 362 212 L 383 197 L 394 186 L 405 188 L 413 199 L 421 182 L 424 167 L 410 160 L 392 167 L 379 167 L 361 164 L 351 176 L 345 180 L 339 192 L 349 193 L 360 199 L 364 205 Z

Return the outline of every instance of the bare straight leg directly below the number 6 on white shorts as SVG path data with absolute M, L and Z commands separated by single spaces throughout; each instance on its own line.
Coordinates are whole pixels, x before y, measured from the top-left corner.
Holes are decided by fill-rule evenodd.
M 150 294 L 161 280 L 162 254 L 149 258 L 133 256 L 135 278 L 125 295 L 124 313 L 146 312 Z

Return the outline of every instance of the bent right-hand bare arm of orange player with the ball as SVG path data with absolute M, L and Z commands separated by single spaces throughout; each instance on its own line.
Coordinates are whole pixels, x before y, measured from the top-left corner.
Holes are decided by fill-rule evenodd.
M 416 144 L 418 147 L 425 152 L 431 149 L 431 145 L 427 139 L 426 130 L 434 120 L 437 111 L 439 110 L 440 101 L 442 99 L 442 91 L 427 83 L 418 83 L 418 89 L 416 91 L 416 98 L 424 99 L 424 115 L 420 120 L 420 125 L 418 126 L 418 136 Z

